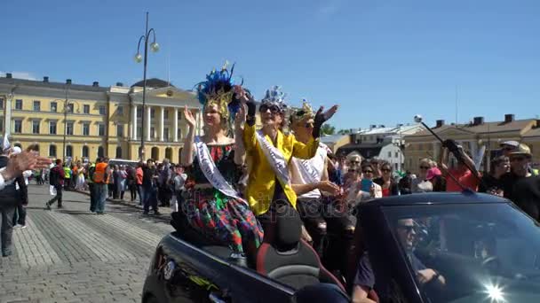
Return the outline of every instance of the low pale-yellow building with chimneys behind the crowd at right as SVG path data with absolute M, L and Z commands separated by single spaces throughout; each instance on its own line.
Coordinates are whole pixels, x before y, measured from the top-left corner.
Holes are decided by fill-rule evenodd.
M 453 139 L 468 151 L 473 159 L 480 162 L 480 170 L 487 171 L 488 163 L 499 154 L 504 141 L 518 141 L 528 144 L 537 166 L 540 160 L 540 121 L 536 119 L 515 120 L 513 114 L 505 114 L 504 120 L 486 122 L 483 117 L 475 117 L 468 124 L 444 123 L 437 120 L 433 131 L 441 138 Z M 427 130 L 405 136 L 405 169 L 417 174 L 420 159 L 440 160 L 441 143 Z M 481 151 L 484 151 L 483 153 Z

